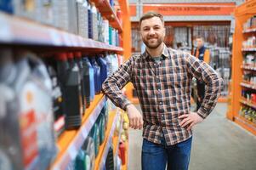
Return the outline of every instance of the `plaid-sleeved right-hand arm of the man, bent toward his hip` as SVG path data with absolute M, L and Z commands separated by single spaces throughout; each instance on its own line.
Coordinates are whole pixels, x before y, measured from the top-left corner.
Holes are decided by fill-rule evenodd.
M 192 55 L 187 55 L 185 58 L 188 71 L 197 80 L 205 82 L 205 96 L 202 100 L 202 105 L 197 111 L 197 114 L 202 118 L 206 118 L 217 104 L 220 90 L 223 84 L 223 79 L 219 77 L 216 71 L 206 62 L 196 59 Z

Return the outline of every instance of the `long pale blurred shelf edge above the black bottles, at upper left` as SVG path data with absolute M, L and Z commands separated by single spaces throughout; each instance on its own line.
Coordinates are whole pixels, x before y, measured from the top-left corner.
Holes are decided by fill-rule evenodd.
M 0 43 L 122 52 L 122 48 L 83 38 L 33 20 L 0 12 Z

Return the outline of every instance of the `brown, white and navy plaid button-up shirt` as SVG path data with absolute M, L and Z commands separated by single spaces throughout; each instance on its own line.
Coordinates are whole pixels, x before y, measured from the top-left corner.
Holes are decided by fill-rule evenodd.
M 223 83 L 212 67 L 185 52 L 164 46 L 160 63 L 151 56 L 135 55 L 103 83 L 102 89 L 123 110 L 130 104 L 121 89 L 132 82 L 143 112 L 143 137 L 161 144 L 162 135 L 168 145 L 191 138 L 192 132 L 179 126 L 179 116 L 190 114 L 191 80 L 206 83 L 205 98 L 197 111 L 207 117 L 219 98 Z

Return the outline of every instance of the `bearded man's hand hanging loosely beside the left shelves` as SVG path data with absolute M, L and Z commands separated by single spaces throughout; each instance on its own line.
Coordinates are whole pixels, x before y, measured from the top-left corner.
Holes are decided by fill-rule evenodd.
M 127 106 L 127 112 L 130 122 L 130 127 L 134 129 L 141 129 L 143 127 L 143 119 L 139 111 L 134 105 Z

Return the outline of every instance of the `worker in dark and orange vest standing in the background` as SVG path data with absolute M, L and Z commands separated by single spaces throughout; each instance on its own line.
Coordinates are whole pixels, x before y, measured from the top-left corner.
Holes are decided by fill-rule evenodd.
M 195 56 L 197 59 L 205 61 L 207 64 L 210 62 L 210 52 L 207 48 L 204 47 L 203 37 L 196 37 L 196 51 Z M 196 79 L 196 88 L 197 88 L 197 99 L 196 99 L 196 111 L 202 105 L 202 99 L 204 98 L 205 93 L 205 83 L 198 81 Z

